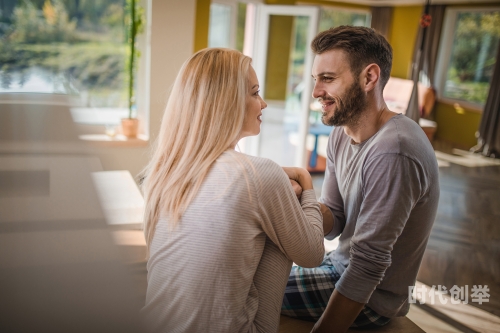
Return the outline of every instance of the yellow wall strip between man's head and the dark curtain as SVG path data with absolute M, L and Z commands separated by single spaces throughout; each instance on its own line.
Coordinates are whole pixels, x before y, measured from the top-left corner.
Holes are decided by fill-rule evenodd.
M 421 16 L 422 6 L 394 7 L 389 37 L 393 48 L 391 76 L 409 78 Z

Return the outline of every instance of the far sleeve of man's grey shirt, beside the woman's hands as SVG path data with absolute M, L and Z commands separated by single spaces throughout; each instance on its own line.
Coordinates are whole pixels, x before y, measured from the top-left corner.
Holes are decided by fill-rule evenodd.
M 332 138 L 329 142 L 332 142 Z M 327 150 L 327 159 L 325 170 L 325 179 L 323 181 L 323 188 L 321 190 L 321 198 L 319 202 L 324 204 L 333 215 L 333 228 L 328 235 L 325 236 L 326 239 L 332 240 L 339 236 L 345 227 L 345 214 L 344 214 L 344 200 L 340 195 L 339 185 L 337 182 L 337 174 L 335 172 L 335 161 L 333 159 L 333 152 L 331 148 Z

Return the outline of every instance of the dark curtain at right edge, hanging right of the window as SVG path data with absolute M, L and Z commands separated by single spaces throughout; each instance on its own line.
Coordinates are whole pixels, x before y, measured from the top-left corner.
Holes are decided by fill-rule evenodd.
M 500 43 L 497 61 L 491 78 L 488 98 L 479 125 L 478 145 L 471 150 L 489 157 L 500 157 Z

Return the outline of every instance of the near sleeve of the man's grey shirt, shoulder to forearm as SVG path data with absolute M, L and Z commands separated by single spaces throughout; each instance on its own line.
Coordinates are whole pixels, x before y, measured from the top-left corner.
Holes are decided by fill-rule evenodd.
M 367 303 L 391 265 L 391 252 L 422 190 L 417 164 L 399 154 L 363 167 L 363 203 L 351 238 L 350 262 L 335 288 Z

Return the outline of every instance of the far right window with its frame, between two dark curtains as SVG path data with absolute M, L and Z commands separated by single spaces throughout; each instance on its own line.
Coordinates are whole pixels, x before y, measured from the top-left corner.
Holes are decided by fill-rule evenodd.
M 436 82 L 440 97 L 483 107 L 500 41 L 500 8 L 448 9 Z

